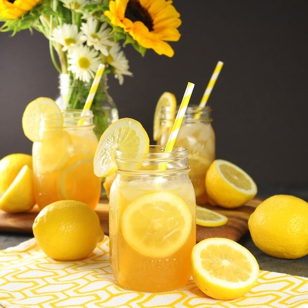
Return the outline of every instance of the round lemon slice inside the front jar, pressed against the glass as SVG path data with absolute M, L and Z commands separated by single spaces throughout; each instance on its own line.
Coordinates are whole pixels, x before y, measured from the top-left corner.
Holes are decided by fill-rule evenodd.
M 123 237 L 135 251 L 165 258 L 185 244 L 193 219 L 182 198 L 170 192 L 153 192 L 132 201 L 121 222 Z

